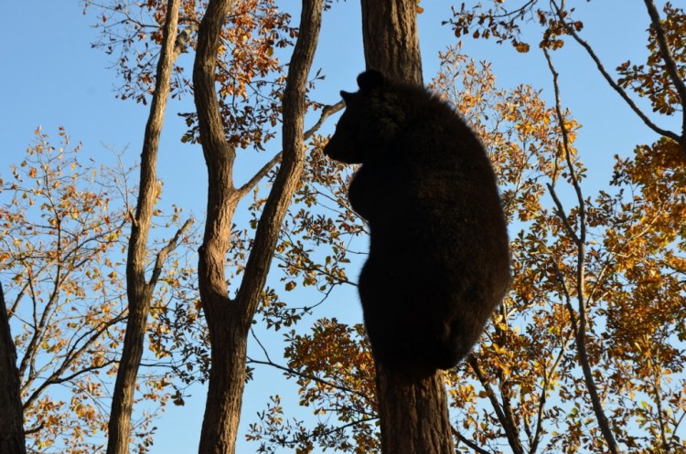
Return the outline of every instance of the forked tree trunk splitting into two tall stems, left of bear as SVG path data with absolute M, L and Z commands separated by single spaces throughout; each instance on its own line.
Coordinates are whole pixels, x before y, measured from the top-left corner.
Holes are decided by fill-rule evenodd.
M 208 322 L 212 367 L 201 454 L 232 454 L 241 417 L 248 334 L 257 311 L 279 230 L 305 163 L 303 121 L 305 87 L 321 25 L 323 0 L 304 0 L 300 34 L 295 43 L 284 90 L 283 157 L 260 217 L 252 251 L 236 298 L 226 287 L 224 263 L 233 213 L 245 188 L 232 184 L 235 150 L 225 140 L 214 89 L 217 48 L 224 19 L 233 0 L 210 0 L 198 30 L 193 69 L 195 102 L 209 193 L 205 236 L 199 249 L 200 298 Z

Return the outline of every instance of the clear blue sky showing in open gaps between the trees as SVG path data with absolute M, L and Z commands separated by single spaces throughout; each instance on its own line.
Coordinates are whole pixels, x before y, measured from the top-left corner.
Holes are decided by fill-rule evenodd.
M 298 2 L 285 4 L 295 3 Z M 450 16 L 450 5 L 459 7 L 460 3 L 422 2 L 424 13 L 418 20 L 425 81 L 432 79 L 438 70 L 438 51 L 456 44 L 452 29 L 441 26 L 441 21 Z M 605 61 L 607 69 L 614 69 L 629 58 L 645 61 L 648 16 L 642 1 L 568 3 L 578 4 L 577 18 L 584 22 L 583 36 Z M 658 2 L 660 6 L 663 3 Z M 21 162 L 39 125 L 43 132 L 50 134 L 53 144 L 59 143 L 58 128 L 64 126 L 72 143 L 83 143 L 85 155 L 105 162 L 112 159 L 107 148 L 126 150 L 125 159 L 133 164 L 140 155 L 148 106 L 114 98 L 117 80 L 113 58 L 91 48 L 91 43 L 99 37 L 99 32 L 91 27 L 97 20 L 96 10 L 89 10 L 84 16 L 82 6 L 74 1 L 24 0 L 5 2 L 3 13 L 0 17 L 0 29 L 5 37 L 0 46 L 3 112 L 0 175 L 9 174 L 9 164 Z M 292 25 L 296 26 L 299 16 L 295 10 L 293 16 Z M 492 63 L 498 88 L 513 89 L 519 84 L 530 84 L 542 90 L 544 99 L 552 105 L 552 79 L 536 47 L 539 28 L 534 25 L 531 30 L 533 34 L 525 35 L 531 43 L 531 52 L 526 55 L 518 54 L 509 45 L 469 39 L 462 50 L 471 58 Z M 563 107 L 569 108 L 583 125 L 576 145 L 588 168 L 586 191 L 590 195 L 592 189 L 607 185 L 614 154 L 627 155 L 637 144 L 652 143 L 657 136 L 606 85 L 581 48 L 570 42 L 553 53 L 553 59 L 561 75 Z M 190 68 L 189 60 L 187 68 Z M 356 90 L 355 77 L 364 69 L 359 2 L 334 3 L 325 14 L 313 71 L 316 69 L 322 69 L 326 75 L 325 80 L 317 83 L 316 100 L 332 104 L 338 101 L 339 90 Z M 163 202 L 183 206 L 202 222 L 207 187 L 205 164 L 198 145 L 179 142 L 186 126 L 176 115 L 177 111 L 191 110 L 189 96 L 172 100 L 168 105 L 160 145 L 159 177 L 165 182 Z M 306 122 L 305 129 L 313 122 Z M 676 124 L 673 120 L 658 122 L 668 128 Z M 334 123 L 335 120 L 327 121 L 321 132 L 332 131 Z M 267 153 L 257 156 L 241 153 L 236 183 L 240 184 L 248 175 L 241 169 L 258 167 L 278 151 L 279 145 L 278 141 L 272 141 L 267 144 Z M 356 295 L 339 294 L 315 318 L 332 315 L 343 322 L 361 322 Z M 256 351 L 252 348 L 251 352 Z M 205 390 L 198 385 L 191 392 L 193 397 L 187 400 L 187 406 L 169 406 L 164 417 L 156 421 L 158 431 L 153 454 L 197 451 Z M 263 410 L 267 397 L 276 393 L 283 396 L 285 407 L 295 406 L 294 385 L 287 384 L 277 371 L 256 369 L 255 380 L 247 385 L 244 395 L 237 452 L 257 448 L 243 441 L 245 430 L 249 423 L 256 422 L 255 413 Z

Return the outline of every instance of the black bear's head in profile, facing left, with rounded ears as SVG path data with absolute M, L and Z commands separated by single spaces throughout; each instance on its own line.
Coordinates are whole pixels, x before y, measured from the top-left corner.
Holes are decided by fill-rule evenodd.
M 358 76 L 358 86 L 355 93 L 340 92 L 346 111 L 324 147 L 328 157 L 346 164 L 364 163 L 369 152 L 388 135 L 384 133 L 388 127 L 384 127 L 383 107 L 389 80 L 380 71 L 370 69 Z

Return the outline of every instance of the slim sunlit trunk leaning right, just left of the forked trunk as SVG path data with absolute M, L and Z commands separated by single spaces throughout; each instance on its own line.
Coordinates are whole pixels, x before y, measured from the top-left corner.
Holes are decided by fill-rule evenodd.
M 162 252 L 158 255 L 157 266 L 153 271 L 152 279 L 149 282 L 145 280 L 147 238 L 157 190 L 157 149 L 165 118 L 166 99 L 169 95 L 171 70 L 175 58 L 174 43 L 177 36 L 179 5 L 180 0 L 169 0 L 167 5 L 162 50 L 157 63 L 155 93 L 150 106 L 150 116 L 145 125 L 145 138 L 143 152 L 141 153 L 140 187 L 126 261 L 126 292 L 129 316 L 123 340 L 122 359 L 114 384 L 112 412 L 108 425 L 107 454 L 127 454 L 129 452 L 136 376 L 143 356 L 145 326 L 150 311 L 150 302 L 156 280 L 161 271 L 160 256 Z

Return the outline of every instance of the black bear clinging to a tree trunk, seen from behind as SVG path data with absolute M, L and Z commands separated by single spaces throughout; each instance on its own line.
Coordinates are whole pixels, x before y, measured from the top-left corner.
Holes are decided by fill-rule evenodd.
M 370 227 L 359 299 L 372 354 L 391 369 L 449 369 L 509 286 L 505 216 L 488 155 L 421 86 L 368 70 L 324 153 L 362 164 L 350 206 Z

